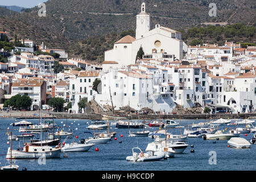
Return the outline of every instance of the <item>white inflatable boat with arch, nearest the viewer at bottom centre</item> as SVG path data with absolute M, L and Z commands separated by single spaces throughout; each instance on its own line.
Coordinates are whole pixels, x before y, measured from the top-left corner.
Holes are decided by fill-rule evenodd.
M 134 152 L 135 149 L 139 150 L 139 154 L 137 152 Z M 131 162 L 150 162 L 150 161 L 162 160 L 164 159 L 164 156 L 165 154 L 162 151 L 157 151 L 157 152 L 148 151 L 144 153 L 142 152 L 141 148 L 134 147 L 133 155 L 127 156 L 126 160 Z

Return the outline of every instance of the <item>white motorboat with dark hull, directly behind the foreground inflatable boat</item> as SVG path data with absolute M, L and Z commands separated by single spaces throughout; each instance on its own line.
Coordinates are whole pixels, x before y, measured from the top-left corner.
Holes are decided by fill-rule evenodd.
M 167 158 L 174 158 L 175 156 L 175 151 L 171 147 L 165 147 L 164 143 L 161 142 L 151 142 L 147 144 L 147 148 L 145 150 L 146 152 L 152 151 L 152 152 L 157 152 L 157 151 L 162 151 L 165 153 L 165 156 Z

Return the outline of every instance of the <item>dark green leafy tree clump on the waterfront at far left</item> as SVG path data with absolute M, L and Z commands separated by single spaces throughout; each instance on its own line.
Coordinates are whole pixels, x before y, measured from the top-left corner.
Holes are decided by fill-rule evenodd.
M 20 96 L 20 94 L 17 94 L 16 96 L 11 97 L 9 100 L 6 100 L 3 106 L 5 107 L 14 107 L 19 110 L 29 110 L 29 107 L 32 105 L 32 100 L 30 97 L 23 95 Z

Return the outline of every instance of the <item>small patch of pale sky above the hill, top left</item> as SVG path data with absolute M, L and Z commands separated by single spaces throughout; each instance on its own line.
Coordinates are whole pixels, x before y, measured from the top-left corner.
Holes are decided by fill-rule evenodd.
M 39 3 L 46 2 L 47 0 L 0 0 L 0 5 L 3 6 L 21 6 L 21 7 L 35 7 Z

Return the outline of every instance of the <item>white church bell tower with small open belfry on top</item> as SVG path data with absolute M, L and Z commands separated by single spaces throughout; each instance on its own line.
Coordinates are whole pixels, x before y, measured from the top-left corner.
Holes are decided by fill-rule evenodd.
M 145 32 L 150 31 L 150 15 L 146 14 L 146 4 L 141 5 L 141 13 L 137 15 L 136 40 L 143 38 Z

